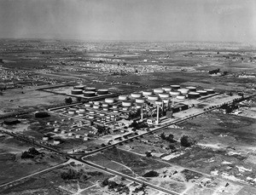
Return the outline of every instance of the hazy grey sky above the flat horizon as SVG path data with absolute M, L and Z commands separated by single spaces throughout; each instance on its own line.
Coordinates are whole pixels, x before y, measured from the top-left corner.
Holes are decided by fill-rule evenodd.
M 0 0 L 0 37 L 256 43 L 256 0 Z

